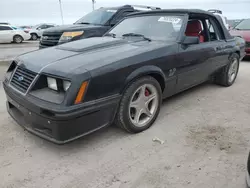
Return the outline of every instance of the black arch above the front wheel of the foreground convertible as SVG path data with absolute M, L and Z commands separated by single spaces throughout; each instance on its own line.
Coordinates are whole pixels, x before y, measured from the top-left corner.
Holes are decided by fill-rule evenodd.
M 164 75 L 163 71 L 157 66 L 148 65 L 140 67 L 129 74 L 129 76 L 125 80 L 125 86 L 122 88 L 121 93 L 125 91 L 125 89 L 131 82 L 143 76 L 152 76 L 153 78 L 155 78 L 159 82 L 162 92 L 164 91 L 166 76 Z

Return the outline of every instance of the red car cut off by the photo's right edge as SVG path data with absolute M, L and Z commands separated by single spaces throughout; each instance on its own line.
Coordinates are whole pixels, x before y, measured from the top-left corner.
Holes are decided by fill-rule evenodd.
M 233 30 L 232 36 L 242 37 L 246 41 L 246 56 L 250 57 L 250 19 L 242 20 Z

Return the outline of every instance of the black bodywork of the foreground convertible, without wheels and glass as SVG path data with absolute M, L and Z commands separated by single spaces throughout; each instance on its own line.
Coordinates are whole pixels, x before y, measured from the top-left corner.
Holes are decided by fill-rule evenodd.
M 130 15 L 127 19 L 175 14 L 183 19 L 176 40 L 94 37 L 19 56 L 3 83 L 9 113 L 38 136 L 65 143 L 111 124 L 124 90 L 139 77 L 154 77 L 166 98 L 208 80 L 229 63 L 231 54 L 244 57 L 244 46 L 230 36 L 220 18 L 205 11 L 152 11 Z M 184 44 L 188 20 L 195 16 L 213 19 L 221 39 Z M 16 71 L 18 68 L 23 74 Z M 18 88 L 23 87 L 21 82 L 30 71 L 35 78 L 22 92 Z M 62 97 L 62 92 L 45 87 L 47 82 L 41 82 L 45 77 L 69 80 L 71 85 Z M 13 85 L 13 78 L 20 82 L 15 80 Z M 74 104 L 83 82 L 88 82 L 83 101 Z

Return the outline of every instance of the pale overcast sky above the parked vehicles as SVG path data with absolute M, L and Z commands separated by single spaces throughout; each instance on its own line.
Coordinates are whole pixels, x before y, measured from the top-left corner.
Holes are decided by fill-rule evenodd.
M 91 0 L 61 0 L 64 24 L 74 23 L 92 10 Z M 250 18 L 250 0 L 96 0 L 95 7 L 125 4 L 161 8 L 220 9 L 228 19 Z M 0 0 L 0 22 L 13 25 L 61 24 L 59 0 Z

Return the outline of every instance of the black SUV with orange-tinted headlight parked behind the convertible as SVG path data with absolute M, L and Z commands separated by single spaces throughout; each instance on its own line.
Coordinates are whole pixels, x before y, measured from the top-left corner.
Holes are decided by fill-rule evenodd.
M 63 25 L 46 30 L 40 40 L 40 48 L 46 48 L 74 40 L 101 37 L 111 27 L 133 12 L 155 10 L 158 7 L 124 5 L 94 10 L 73 25 Z

